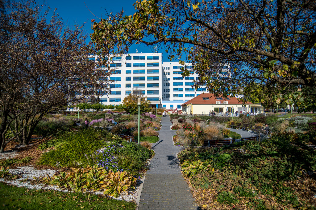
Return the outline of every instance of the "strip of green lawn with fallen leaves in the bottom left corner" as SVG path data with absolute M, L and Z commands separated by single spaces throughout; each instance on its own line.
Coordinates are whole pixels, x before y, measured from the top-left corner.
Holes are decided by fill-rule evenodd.
M 136 204 L 83 193 L 29 190 L 0 183 L 0 209 L 136 209 Z

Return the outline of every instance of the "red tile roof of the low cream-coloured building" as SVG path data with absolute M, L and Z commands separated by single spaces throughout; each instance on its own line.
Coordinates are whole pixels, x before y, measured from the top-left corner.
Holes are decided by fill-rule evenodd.
M 203 99 L 203 98 L 209 98 L 209 99 Z M 193 99 L 185 102 L 183 105 L 187 105 L 187 104 L 216 104 L 216 101 L 220 101 L 221 104 L 224 104 L 224 101 L 228 101 L 228 104 L 242 104 L 242 102 L 238 101 L 238 98 L 236 97 L 232 97 L 232 96 L 227 96 L 226 99 L 224 97 L 221 97 L 221 99 L 216 99 L 216 97 L 214 96 L 214 94 L 209 94 L 209 93 L 204 93 L 204 94 L 199 94 L 197 97 L 194 97 Z M 251 102 L 246 102 L 245 104 L 252 104 Z

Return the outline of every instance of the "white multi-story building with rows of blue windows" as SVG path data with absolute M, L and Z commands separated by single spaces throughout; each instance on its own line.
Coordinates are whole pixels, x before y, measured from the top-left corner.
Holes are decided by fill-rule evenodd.
M 98 60 L 98 56 L 90 55 L 89 59 Z M 161 53 L 133 53 L 112 57 L 110 67 L 115 68 L 115 73 L 109 79 L 115 82 L 110 84 L 111 92 L 100 97 L 103 104 L 120 104 L 137 88 L 151 101 L 151 106 L 181 109 L 181 104 L 207 93 L 204 86 L 197 90 L 191 87 L 198 77 L 193 71 L 192 75 L 182 77 L 180 69 L 191 69 L 191 64 L 162 62 Z M 229 65 L 223 67 L 222 73 L 229 75 Z

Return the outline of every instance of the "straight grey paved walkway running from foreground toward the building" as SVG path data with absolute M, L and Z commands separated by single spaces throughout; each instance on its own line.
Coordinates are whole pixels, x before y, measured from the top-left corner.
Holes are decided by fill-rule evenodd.
M 138 209 L 198 209 L 188 184 L 183 179 L 170 130 L 170 117 L 162 117 L 159 141 L 153 144 L 155 156 L 150 162 Z

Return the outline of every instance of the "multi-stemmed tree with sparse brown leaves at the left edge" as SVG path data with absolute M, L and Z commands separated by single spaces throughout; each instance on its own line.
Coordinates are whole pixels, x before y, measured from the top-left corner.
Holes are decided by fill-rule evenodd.
M 4 2 L 0 9 L 0 152 L 13 139 L 28 144 L 46 113 L 105 94 L 111 75 L 89 61 L 82 27 L 34 2 Z M 10 130 L 13 136 L 5 139 Z

